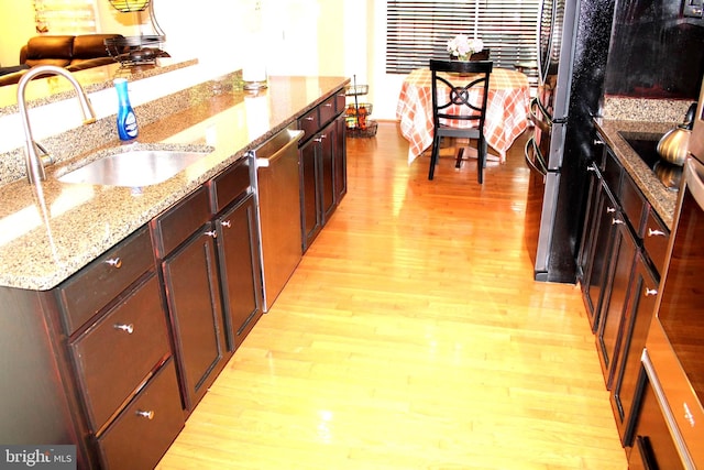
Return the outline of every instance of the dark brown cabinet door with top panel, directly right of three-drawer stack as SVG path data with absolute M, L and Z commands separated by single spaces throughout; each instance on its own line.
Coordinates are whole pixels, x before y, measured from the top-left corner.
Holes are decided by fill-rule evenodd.
M 200 187 L 152 222 L 177 370 L 193 411 L 224 367 L 227 345 L 216 260 L 217 232 Z

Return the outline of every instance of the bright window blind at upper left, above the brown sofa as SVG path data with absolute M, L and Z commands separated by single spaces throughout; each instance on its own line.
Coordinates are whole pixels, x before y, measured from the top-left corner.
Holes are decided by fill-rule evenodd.
M 34 0 L 34 12 L 41 34 L 97 32 L 96 0 Z

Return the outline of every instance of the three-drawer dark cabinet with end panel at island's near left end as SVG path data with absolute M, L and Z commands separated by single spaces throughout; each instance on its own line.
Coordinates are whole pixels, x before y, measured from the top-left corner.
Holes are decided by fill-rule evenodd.
M 16 365 L 3 368 L 12 433 L 1 440 L 74 444 L 80 469 L 153 468 L 184 411 L 148 228 L 51 291 L 1 288 L 0 299 L 12 313 L 0 351 Z M 146 400 L 154 389 L 158 402 Z

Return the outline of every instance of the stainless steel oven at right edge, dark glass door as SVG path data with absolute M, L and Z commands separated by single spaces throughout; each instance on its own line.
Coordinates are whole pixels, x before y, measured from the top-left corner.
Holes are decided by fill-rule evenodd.
M 642 363 L 682 466 L 704 469 L 704 164 L 694 157 L 674 220 Z

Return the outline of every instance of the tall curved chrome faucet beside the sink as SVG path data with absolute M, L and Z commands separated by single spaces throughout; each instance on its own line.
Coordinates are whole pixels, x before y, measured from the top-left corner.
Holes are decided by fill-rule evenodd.
M 40 181 L 46 179 L 44 162 L 42 159 L 44 157 L 51 161 L 51 156 L 48 155 L 48 152 L 46 152 L 46 149 L 44 149 L 38 142 L 34 142 L 32 128 L 30 127 L 30 117 L 26 112 L 24 90 L 26 88 L 26 84 L 37 75 L 62 75 L 66 77 L 66 79 L 68 79 L 76 89 L 78 101 L 80 102 L 80 109 L 84 113 L 84 124 L 91 124 L 96 122 L 96 111 L 94 111 L 86 91 L 70 72 L 55 65 L 38 65 L 30 68 L 30 70 L 22 76 L 18 85 L 18 107 L 20 108 L 20 119 L 22 119 L 22 125 L 24 127 L 24 138 L 26 141 L 24 156 L 26 164 L 26 177 L 30 184 L 35 184 Z

